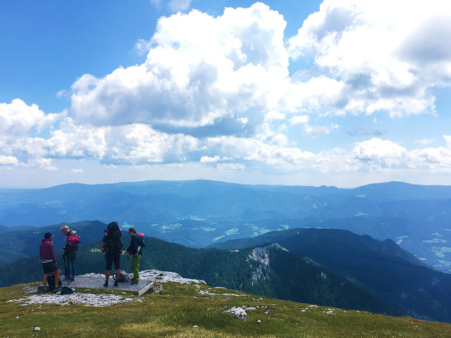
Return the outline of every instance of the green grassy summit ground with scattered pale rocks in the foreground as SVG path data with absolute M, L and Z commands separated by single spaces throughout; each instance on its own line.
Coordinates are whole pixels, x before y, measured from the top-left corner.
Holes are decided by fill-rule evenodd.
M 82 304 L 22 306 L 8 302 L 29 296 L 24 289 L 27 286 L 0 288 L 0 337 L 437 338 L 450 337 L 451 332 L 451 324 L 447 323 L 316 307 L 206 285 L 196 287 L 173 282 L 164 283 L 160 294 L 144 294 L 140 297 L 142 302 L 107 307 Z M 78 287 L 76 292 L 136 297 L 123 291 Z M 246 321 L 223 313 L 243 305 L 255 307 L 255 310 L 246 311 Z M 35 332 L 35 327 L 40 331 Z

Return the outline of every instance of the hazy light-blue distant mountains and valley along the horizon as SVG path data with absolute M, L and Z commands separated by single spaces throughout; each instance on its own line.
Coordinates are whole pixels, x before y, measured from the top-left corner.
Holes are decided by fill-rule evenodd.
M 390 182 L 339 189 L 155 180 L 0 189 L 3 226 L 87 219 L 116 220 L 123 228 L 197 248 L 273 230 L 338 228 L 392 239 L 435 269 L 451 272 L 450 186 Z

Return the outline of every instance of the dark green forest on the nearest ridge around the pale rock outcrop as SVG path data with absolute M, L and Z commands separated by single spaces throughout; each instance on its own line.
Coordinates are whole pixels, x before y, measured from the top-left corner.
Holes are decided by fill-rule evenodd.
M 104 254 L 98 247 L 99 244 L 92 243 L 80 248 L 76 260 L 77 274 L 105 272 Z M 403 313 L 348 278 L 282 249 L 269 249 L 271 264 L 265 270 L 268 278 L 260 277 L 253 283 L 251 276 L 260 262 L 250 258 L 251 253 L 251 248 L 238 252 L 218 248 L 196 249 L 149 238 L 146 239 L 139 269 L 173 271 L 185 278 L 203 279 L 214 287 L 285 300 L 384 314 Z M 57 258 L 61 255 L 62 251 L 58 251 Z M 130 264 L 126 255 L 121 255 L 121 268 L 130 272 Z M 62 269 L 61 263 L 58 265 Z M 37 257 L 5 264 L 2 269 L 9 272 L 1 279 L 1 286 L 42 279 L 42 267 Z

